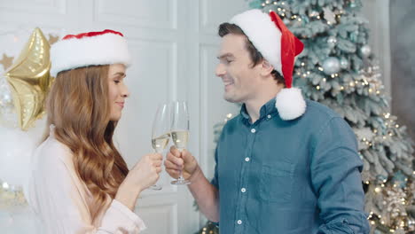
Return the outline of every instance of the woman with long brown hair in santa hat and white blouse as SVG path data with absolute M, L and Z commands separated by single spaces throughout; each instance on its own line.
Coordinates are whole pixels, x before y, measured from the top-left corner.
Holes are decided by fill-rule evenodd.
M 112 30 L 67 35 L 51 48 L 50 131 L 35 150 L 29 204 L 43 233 L 138 233 L 133 212 L 161 172 L 161 154 L 129 170 L 113 134 L 129 91 L 129 51 Z

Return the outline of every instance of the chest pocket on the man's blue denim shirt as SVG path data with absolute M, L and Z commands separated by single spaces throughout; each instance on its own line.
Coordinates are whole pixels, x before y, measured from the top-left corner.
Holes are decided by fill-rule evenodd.
M 294 183 L 294 164 L 279 161 L 262 165 L 260 197 L 266 202 L 287 202 Z

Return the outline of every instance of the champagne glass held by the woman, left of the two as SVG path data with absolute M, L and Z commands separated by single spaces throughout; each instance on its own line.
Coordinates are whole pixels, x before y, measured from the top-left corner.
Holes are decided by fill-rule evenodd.
M 170 110 L 167 104 L 159 105 L 154 116 L 152 131 L 152 146 L 155 152 L 161 153 L 168 145 L 170 139 Z M 160 184 L 151 187 L 153 190 L 161 190 Z

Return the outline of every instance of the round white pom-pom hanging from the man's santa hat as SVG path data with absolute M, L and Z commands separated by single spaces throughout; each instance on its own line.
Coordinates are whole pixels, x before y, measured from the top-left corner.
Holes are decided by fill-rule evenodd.
M 285 121 L 297 119 L 305 113 L 306 102 L 298 88 L 280 90 L 275 100 L 279 116 Z

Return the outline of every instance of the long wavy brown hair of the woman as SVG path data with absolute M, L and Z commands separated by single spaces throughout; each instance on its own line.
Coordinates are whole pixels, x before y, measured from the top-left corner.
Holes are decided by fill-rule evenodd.
M 60 72 L 46 101 L 48 126 L 74 153 L 74 168 L 90 190 L 92 220 L 113 199 L 125 176 L 126 162 L 114 146 L 117 121 L 110 121 L 109 66 L 88 66 Z M 49 136 L 45 133 L 43 140 Z

